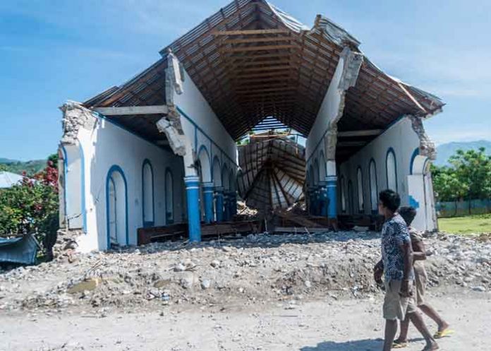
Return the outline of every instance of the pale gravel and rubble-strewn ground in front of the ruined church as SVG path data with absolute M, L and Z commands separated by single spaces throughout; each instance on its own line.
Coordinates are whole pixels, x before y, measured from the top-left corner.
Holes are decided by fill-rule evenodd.
M 444 350 L 489 350 L 480 346 L 491 315 L 489 237 L 437 234 L 425 244 L 430 297 L 465 331 Z M 73 258 L 0 273 L 0 350 L 380 348 L 377 233 L 261 234 Z

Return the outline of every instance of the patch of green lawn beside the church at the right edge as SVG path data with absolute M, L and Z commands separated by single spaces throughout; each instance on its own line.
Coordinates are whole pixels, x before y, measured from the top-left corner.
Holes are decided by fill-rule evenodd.
M 491 214 L 469 215 L 456 218 L 439 218 L 438 227 L 442 232 L 453 234 L 480 234 L 491 232 Z

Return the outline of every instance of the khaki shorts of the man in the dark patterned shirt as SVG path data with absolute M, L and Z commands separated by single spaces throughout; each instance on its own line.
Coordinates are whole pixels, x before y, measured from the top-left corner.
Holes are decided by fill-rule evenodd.
M 416 311 L 414 297 L 401 297 L 401 280 L 389 280 L 385 282 L 384 319 L 399 319 L 404 321 L 406 314 Z M 413 291 L 413 285 L 409 284 L 409 291 Z

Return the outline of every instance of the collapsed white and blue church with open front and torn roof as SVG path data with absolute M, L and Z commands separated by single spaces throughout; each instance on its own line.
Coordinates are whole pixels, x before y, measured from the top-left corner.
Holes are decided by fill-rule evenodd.
M 231 2 L 127 83 L 61 107 L 61 226 L 80 232 L 81 251 L 179 223 L 199 241 L 205 223 L 234 218 L 239 195 L 277 181 L 288 189 L 270 186 L 269 207 L 305 198 L 332 223 L 376 213 L 378 192 L 394 189 L 418 208 L 415 227 L 434 230 L 423 120 L 444 103 L 359 46 L 324 16 L 309 28 L 268 1 Z M 267 174 L 239 167 L 236 141 L 265 119 L 305 136 L 303 169 L 291 172 L 281 153 Z

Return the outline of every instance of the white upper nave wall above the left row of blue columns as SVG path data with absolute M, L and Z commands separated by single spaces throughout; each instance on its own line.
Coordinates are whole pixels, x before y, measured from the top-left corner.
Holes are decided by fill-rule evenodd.
M 222 167 L 223 162 L 237 164 L 237 147 L 234 139 L 214 114 L 188 73 L 184 72 L 184 76 L 183 93 L 181 95 L 174 93 L 174 104 L 202 129 L 200 131 L 186 117 L 181 117 L 184 133 L 190 139 L 193 149 L 198 152 L 201 145 L 205 145 L 211 160 L 214 155 L 218 155 Z

